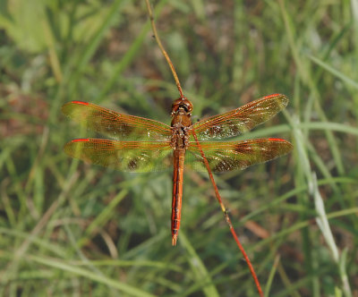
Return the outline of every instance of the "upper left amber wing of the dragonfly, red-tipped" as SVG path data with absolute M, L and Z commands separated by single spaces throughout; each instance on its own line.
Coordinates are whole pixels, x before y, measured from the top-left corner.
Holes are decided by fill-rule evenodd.
M 62 111 L 73 121 L 115 140 L 169 140 L 171 137 L 171 129 L 165 123 L 118 114 L 87 102 L 69 102 Z

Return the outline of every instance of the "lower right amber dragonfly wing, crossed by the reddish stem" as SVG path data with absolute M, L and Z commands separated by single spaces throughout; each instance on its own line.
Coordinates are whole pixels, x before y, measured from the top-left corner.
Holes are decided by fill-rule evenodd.
M 281 139 L 260 139 L 233 142 L 191 142 L 185 155 L 185 165 L 197 171 L 207 171 L 200 148 L 213 172 L 244 169 L 289 153 L 293 146 Z

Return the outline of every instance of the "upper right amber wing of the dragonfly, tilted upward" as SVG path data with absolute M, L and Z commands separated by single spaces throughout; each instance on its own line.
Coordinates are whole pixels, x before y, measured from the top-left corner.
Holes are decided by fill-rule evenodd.
M 214 115 L 192 125 L 199 140 L 234 137 L 251 130 L 284 109 L 285 95 L 274 94 L 252 101 L 222 115 Z

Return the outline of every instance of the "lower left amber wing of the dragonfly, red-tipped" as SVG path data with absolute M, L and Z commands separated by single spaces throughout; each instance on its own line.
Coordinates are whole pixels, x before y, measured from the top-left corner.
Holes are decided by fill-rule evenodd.
M 81 139 L 68 142 L 64 151 L 85 162 L 122 171 L 161 171 L 173 163 L 173 149 L 166 141 Z

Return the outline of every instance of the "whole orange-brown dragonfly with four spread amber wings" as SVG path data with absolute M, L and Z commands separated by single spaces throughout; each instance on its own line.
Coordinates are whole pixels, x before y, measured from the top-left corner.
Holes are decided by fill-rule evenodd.
M 111 140 L 72 140 L 64 146 L 64 152 L 91 164 L 126 172 L 161 171 L 173 165 L 171 232 L 175 245 L 181 223 L 184 168 L 207 171 L 206 158 L 210 170 L 221 173 L 286 155 L 293 146 L 282 139 L 217 140 L 250 131 L 284 109 L 287 103 L 285 95 L 273 94 L 192 123 L 192 102 L 178 98 L 172 104 L 169 126 L 95 104 L 72 101 L 62 107 L 64 115 Z

